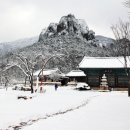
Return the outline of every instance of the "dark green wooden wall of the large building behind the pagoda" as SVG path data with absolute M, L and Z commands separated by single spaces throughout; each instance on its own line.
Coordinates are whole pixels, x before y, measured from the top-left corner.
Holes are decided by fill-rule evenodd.
M 126 74 L 125 69 L 82 69 L 82 70 L 87 75 L 86 82 L 91 87 L 100 87 L 101 78 L 103 74 L 106 75 L 108 80 L 108 86 L 111 88 L 128 88 L 128 86 L 130 85 L 130 76 Z

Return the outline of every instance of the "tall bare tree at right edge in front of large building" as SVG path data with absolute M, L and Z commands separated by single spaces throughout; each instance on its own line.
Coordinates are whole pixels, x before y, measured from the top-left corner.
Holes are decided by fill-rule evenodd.
M 129 76 L 128 60 L 130 61 L 130 23 L 119 20 L 119 23 L 111 27 L 116 38 L 115 53 L 117 56 L 124 57 L 124 67 L 126 75 Z M 128 87 L 128 96 L 130 96 L 130 85 Z

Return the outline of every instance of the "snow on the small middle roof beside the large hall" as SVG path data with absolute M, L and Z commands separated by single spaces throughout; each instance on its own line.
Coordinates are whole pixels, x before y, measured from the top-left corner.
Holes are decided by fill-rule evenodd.
M 72 70 L 66 74 L 68 77 L 86 76 L 82 70 Z

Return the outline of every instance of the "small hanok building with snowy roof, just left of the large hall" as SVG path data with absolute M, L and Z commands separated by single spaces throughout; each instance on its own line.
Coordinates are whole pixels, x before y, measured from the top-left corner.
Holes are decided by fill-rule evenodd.
M 66 74 L 66 77 L 69 78 L 69 82 L 77 81 L 77 82 L 85 82 L 86 75 L 82 70 L 72 70 Z

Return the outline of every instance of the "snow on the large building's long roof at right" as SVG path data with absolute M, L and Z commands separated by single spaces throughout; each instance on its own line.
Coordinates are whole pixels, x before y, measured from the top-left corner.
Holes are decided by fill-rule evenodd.
M 127 57 L 127 67 L 130 68 L 130 57 Z M 79 68 L 125 68 L 124 57 L 84 57 Z

